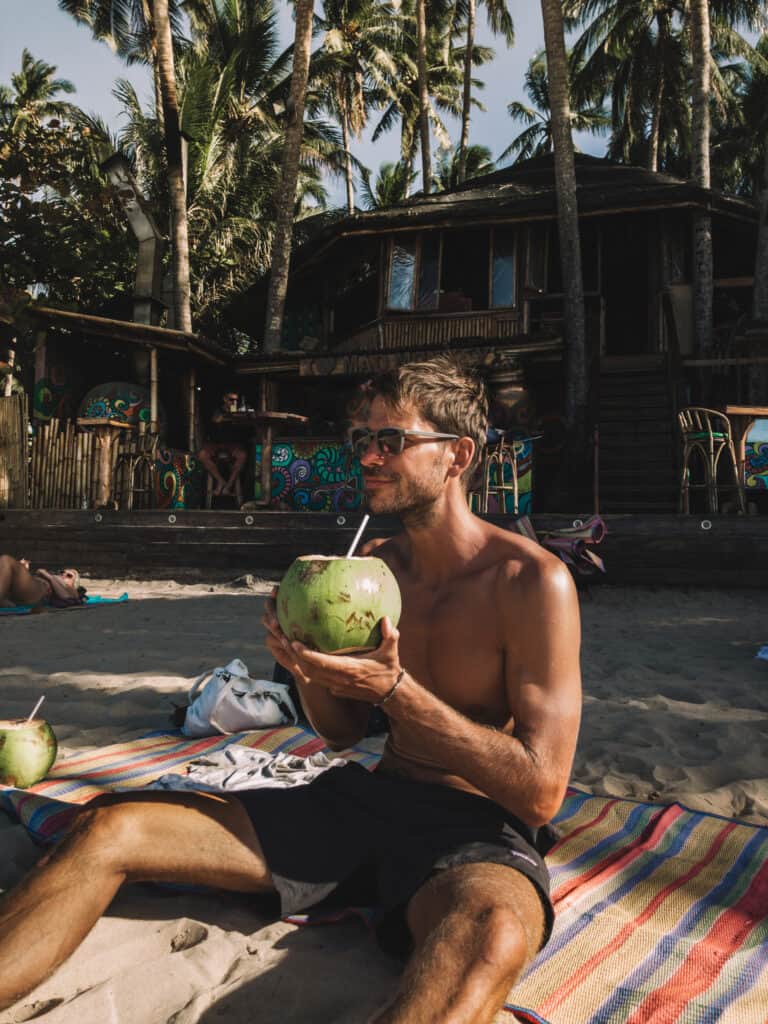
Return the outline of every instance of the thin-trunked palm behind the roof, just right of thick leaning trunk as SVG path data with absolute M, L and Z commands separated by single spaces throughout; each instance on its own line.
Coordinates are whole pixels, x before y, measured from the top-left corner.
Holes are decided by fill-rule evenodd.
M 372 105 L 394 98 L 401 46 L 399 17 L 389 3 L 373 0 L 325 0 L 321 27 L 323 49 L 313 61 L 326 91 L 326 103 L 338 118 L 345 161 L 347 210 L 354 212 L 354 182 L 350 138 L 359 136 Z

